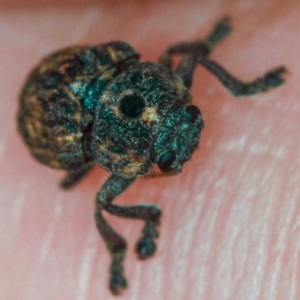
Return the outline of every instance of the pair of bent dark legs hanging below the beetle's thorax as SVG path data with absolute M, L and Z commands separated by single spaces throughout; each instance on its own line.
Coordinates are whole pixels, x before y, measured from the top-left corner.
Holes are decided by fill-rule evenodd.
M 104 183 L 96 197 L 95 220 L 99 233 L 103 237 L 108 251 L 111 254 L 112 262 L 110 266 L 109 287 L 113 294 L 119 294 L 120 288 L 126 288 L 126 278 L 124 277 L 124 268 L 122 262 L 126 252 L 125 240 L 112 229 L 112 227 L 103 218 L 102 211 L 124 218 L 145 220 L 146 226 L 143 230 L 143 236 L 137 245 L 137 252 L 140 258 L 146 258 L 155 251 L 153 239 L 158 237 L 155 226 L 159 223 L 160 209 L 152 205 L 137 206 L 116 206 L 111 202 L 114 198 L 125 191 L 135 180 L 122 178 L 117 175 L 110 176 Z

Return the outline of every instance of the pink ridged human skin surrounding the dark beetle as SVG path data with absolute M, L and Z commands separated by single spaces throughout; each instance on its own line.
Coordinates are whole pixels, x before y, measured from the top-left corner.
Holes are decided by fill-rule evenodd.
M 142 222 L 107 216 L 128 241 L 129 288 L 119 298 L 300 299 L 298 1 L 55 2 L 1 4 L 0 298 L 113 299 L 110 259 L 93 218 L 109 174 L 95 169 L 64 192 L 63 172 L 32 159 L 15 122 L 29 70 L 64 46 L 118 39 L 155 61 L 229 15 L 233 33 L 212 59 L 245 81 L 283 65 L 287 82 L 237 99 L 197 68 L 193 102 L 206 123 L 200 148 L 181 174 L 137 180 L 115 200 L 161 206 L 156 255 L 144 262 L 135 256 Z

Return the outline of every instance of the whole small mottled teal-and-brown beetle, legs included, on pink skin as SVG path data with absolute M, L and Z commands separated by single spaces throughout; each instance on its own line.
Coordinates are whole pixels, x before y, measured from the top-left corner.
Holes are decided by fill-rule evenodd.
M 111 254 L 113 294 L 127 286 L 122 265 L 126 242 L 102 212 L 144 220 L 136 252 L 140 259 L 154 254 L 159 207 L 112 201 L 138 177 L 179 173 L 198 147 L 204 122 L 189 92 L 196 65 L 212 72 L 235 96 L 266 92 L 284 82 L 283 67 L 243 83 L 212 61 L 209 55 L 230 31 L 224 18 L 207 39 L 172 46 L 159 63 L 140 62 L 139 54 L 121 41 L 67 48 L 42 60 L 22 90 L 19 131 L 37 160 L 68 172 L 63 189 L 95 165 L 112 173 L 97 193 L 95 220 Z M 172 55 L 183 56 L 175 70 Z

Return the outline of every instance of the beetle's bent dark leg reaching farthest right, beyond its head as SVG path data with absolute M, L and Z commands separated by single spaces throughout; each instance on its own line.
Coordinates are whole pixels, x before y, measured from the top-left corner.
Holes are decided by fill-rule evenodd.
M 283 75 L 286 73 L 284 67 L 279 67 L 267 72 L 262 77 L 251 82 L 244 83 L 230 75 L 219 64 L 207 57 L 198 56 L 196 61 L 212 72 L 223 83 L 223 85 L 237 97 L 255 95 L 257 93 L 266 92 L 272 87 L 280 86 L 284 83 Z

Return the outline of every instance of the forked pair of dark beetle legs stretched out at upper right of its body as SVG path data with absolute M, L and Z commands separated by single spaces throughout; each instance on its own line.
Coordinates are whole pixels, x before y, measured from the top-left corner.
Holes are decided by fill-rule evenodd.
M 183 80 L 184 85 L 190 88 L 192 85 L 193 73 L 196 63 L 202 64 L 212 72 L 235 96 L 251 96 L 257 93 L 266 92 L 272 87 L 283 84 L 283 74 L 286 70 L 283 67 L 267 72 L 263 77 L 259 77 L 252 82 L 241 82 L 229 74 L 219 64 L 208 58 L 215 46 L 220 43 L 231 32 L 229 19 L 222 19 L 214 28 L 213 32 L 203 42 L 182 43 L 170 47 L 161 56 L 160 62 L 168 67 L 172 66 L 171 55 L 184 55 L 179 62 L 176 73 Z

